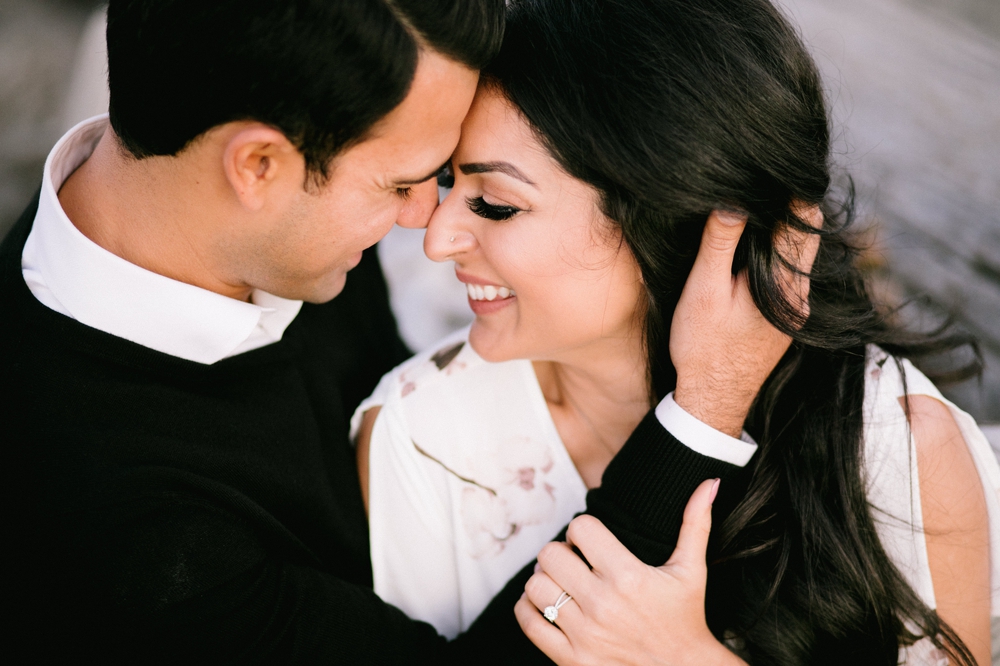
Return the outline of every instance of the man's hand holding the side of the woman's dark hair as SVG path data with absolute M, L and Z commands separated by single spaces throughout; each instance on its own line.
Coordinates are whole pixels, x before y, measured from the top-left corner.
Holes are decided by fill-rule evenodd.
M 797 212 L 813 227 L 822 227 L 818 207 Z M 750 405 L 791 344 L 791 338 L 757 309 L 746 269 L 732 274 L 746 222 L 746 216 L 728 211 L 709 216 L 670 330 L 670 357 L 677 369 L 674 400 L 695 418 L 733 437 L 740 436 Z M 778 274 L 789 302 L 804 321 L 809 309 L 808 274 L 819 236 L 788 229 L 776 245 L 804 274 L 788 269 Z

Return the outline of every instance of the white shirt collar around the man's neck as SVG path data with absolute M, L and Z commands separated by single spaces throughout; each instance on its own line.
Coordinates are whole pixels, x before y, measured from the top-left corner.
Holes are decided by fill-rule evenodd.
M 243 303 L 178 282 L 108 252 L 73 226 L 59 190 L 107 127 L 107 114 L 80 123 L 45 162 L 38 213 L 21 255 L 35 298 L 91 328 L 198 363 L 280 340 L 301 301 L 256 290 L 253 302 Z

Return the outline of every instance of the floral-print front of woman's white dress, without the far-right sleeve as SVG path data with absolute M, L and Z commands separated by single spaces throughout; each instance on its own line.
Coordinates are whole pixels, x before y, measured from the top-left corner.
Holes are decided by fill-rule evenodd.
M 467 334 L 386 375 L 351 422 L 356 433 L 362 414 L 382 405 L 369 456 L 375 591 L 448 637 L 468 628 L 587 492 L 531 362 L 486 363 Z

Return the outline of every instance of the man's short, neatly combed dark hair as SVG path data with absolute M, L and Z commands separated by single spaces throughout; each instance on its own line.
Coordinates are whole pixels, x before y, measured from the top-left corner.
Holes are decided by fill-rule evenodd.
M 206 131 L 281 130 L 323 178 L 406 96 L 421 47 L 473 69 L 503 37 L 504 0 L 111 0 L 111 125 L 137 158 Z

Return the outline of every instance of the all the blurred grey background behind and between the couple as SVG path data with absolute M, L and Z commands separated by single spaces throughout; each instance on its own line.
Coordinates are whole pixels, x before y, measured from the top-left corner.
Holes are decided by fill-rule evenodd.
M 925 296 L 929 305 L 911 311 L 926 321 L 953 312 L 982 340 L 982 387 L 949 396 L 1000 423 L 1000 0 L 779 4 L 823 71 L 837 162 L 874 230 L 866 261 L 880 291 Z M 37 188 L 52 144 L 100 108 L 97 6 L 0 0 L 0 233 Z M 423 258 L 420 244 L 421 232 L 397 229 L 380 246 L 414 348 L 470 316 L 451 268 Z

